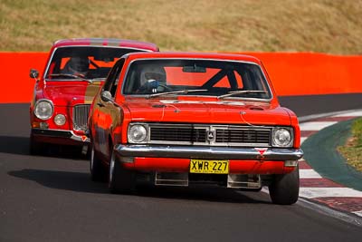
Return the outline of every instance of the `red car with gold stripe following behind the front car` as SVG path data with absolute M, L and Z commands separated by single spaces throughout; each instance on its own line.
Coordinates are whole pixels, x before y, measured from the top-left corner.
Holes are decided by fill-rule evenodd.
M 36 79 L 30 105 L 31 154 L 42 152 L 48 143 L 87 148 L 90 103 L 110 68 L 126 53 L 156 51 L 156 44 L 119 39 L 55 42 L 43 76 L 38 79 L 37 70 L 30 72 Z

